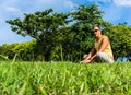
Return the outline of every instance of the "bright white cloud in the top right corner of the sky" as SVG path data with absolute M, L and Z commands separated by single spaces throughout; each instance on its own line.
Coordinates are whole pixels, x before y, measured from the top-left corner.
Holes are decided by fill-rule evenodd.
M 131 0 L 114 0 L 116 5 L 131 7 Z

